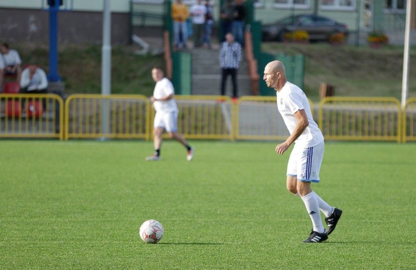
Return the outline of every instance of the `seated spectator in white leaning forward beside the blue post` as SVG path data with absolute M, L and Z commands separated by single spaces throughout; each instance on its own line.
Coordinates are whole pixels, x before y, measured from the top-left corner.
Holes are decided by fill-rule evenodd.
M 21 94 L 47 94 L 48 79 L 45 71 L 35 64 L 30 64 L 21 72 Z M 24 101 L 24 99 L 23 99 Z M 43 110 L 46 109 L 46 100 L 42 99 Z

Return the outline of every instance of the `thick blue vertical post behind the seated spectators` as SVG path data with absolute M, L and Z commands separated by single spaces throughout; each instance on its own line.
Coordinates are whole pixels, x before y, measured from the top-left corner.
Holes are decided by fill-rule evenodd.
M 49 6 L 49 74 L 50 82 L 61 82 L 58 74 L 58 11 L 60 0 Z

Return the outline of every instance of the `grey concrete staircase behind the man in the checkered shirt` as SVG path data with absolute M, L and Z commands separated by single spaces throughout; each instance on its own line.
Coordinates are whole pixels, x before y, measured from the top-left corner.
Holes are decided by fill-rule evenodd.
M 220 95 L 221 67 L 219 49 L 194 48 L 192 54 L 192 95 Z M 231 77 L 227 79 L 226 95 L 232 96 Z M 237 74 L 238 96 L 251 94 L 248 65 L 244 58 Z

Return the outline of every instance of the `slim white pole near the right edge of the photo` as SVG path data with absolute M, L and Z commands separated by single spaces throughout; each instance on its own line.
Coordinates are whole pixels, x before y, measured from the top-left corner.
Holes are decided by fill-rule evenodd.
M 404 33 L 404 52 L 403 52 L 403 81 L 401 85 L 401 107 L 404 108 L 409 91 L 409 45 L 410 45 L 410 13 L 412 10 L 412 0 L 406 3 L 406 27 Z

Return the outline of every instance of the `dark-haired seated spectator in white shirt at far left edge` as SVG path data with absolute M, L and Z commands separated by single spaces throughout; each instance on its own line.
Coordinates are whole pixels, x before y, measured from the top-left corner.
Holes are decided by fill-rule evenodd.
M 21 59 L 16 50 L 10 49 L 8 43 L 1 44 L 0 57 L 0 87 L 3 85 L 4 75 L 16 75 L 16 81 L 20 82 Z

